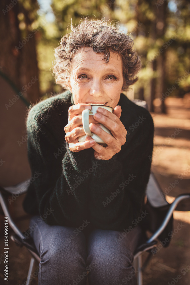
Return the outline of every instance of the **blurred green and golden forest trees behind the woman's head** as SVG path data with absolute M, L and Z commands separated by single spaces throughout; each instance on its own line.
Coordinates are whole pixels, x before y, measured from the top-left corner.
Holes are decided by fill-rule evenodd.
M 190 91 L 189 1 L 2 0 L 0 8 L 0 72 L 30 103 L 63 90 L 50 72 L 54 48 L 86 16 L 105 17 L 133 38 L 142 70 L 132 93 L 149 111 L 165 113 L 167 97 Z

